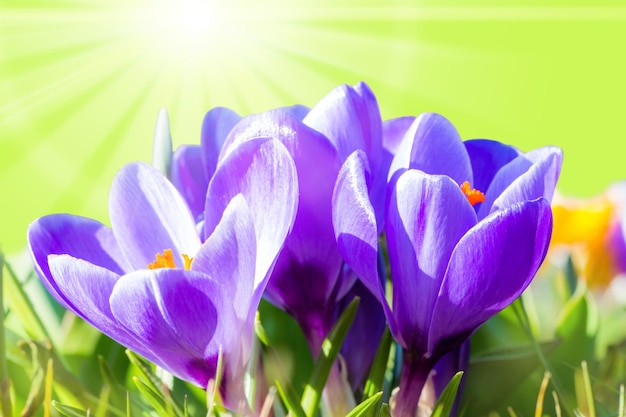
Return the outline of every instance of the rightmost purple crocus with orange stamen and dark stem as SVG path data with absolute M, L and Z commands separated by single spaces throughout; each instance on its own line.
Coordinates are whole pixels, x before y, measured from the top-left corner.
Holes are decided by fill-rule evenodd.
M 474 156 L 503 149 L 495 141 L 482 145 L 484 152 Z M 548 200 L 562 155 L 554 147 L 515 152 L 475 175 L 480 161 L 436 114 L 416 118 L 396 152 L 383 229 L 391 305 L 376 273 L 378 226 L 362 152 L 341 168 L 333 221 L 344 259 L 382 303 L 403 349 L 396 415 L 413 416 L 438 359 L 518 297 L 543 261 L 552 228 Z M 475 178 L 487 187 L 483 192 L 472 186 Z

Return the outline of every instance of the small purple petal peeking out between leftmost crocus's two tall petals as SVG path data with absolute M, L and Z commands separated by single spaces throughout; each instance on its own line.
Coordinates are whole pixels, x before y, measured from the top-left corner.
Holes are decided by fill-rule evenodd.
M 204 212 L 208 177 L 202 162 L 202 148 L 199 145 L 182 145 L 174 152 L 170 169 L 170 179 L 183 196 L 194 219 Z

